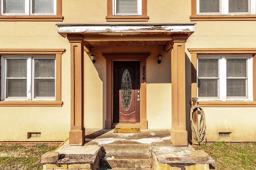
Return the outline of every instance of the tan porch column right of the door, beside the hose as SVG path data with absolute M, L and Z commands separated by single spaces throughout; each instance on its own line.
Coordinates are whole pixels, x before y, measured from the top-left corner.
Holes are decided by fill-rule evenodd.
M 172 128 L 171 142 L 174 146 L 188 146 L 186 131 L 186 92 L 185 92 L 185 42 L 186 34 L 172 36 Z

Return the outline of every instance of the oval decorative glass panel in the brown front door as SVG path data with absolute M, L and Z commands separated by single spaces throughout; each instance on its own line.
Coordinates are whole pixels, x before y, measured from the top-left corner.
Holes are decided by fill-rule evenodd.
M 124 70 L 121 84 L 121 96 L 124 109 L 127 111 L 132 100 L 132 80 L 128 69 Z

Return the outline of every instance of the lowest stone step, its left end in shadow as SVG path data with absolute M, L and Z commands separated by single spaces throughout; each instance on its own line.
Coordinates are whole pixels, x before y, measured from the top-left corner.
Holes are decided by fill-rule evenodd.
M 100 169 L 143 170 L 151 169 L 152 159 L 149 154 L 109 154 L 100 160 Z

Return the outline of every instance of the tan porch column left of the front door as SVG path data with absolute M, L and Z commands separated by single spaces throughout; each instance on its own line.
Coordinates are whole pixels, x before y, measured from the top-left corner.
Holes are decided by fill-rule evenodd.
M 82 35 L 68 35 L 70 42 L 71 115 L 70 145 L 84 144 L 84 42 Z

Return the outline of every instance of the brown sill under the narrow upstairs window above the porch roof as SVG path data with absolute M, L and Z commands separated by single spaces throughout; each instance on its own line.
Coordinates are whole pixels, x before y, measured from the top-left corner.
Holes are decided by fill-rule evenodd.
M 148 21 L 149 16 L 106 16 L 106 21 Z

